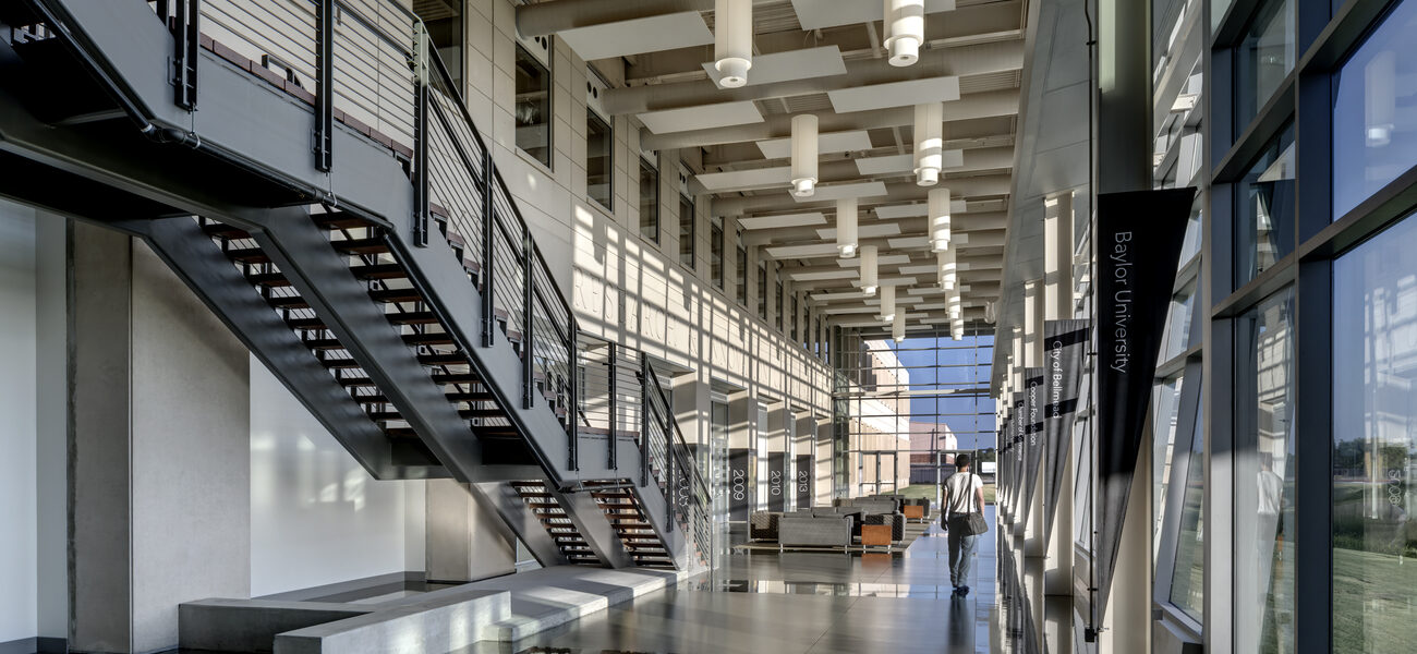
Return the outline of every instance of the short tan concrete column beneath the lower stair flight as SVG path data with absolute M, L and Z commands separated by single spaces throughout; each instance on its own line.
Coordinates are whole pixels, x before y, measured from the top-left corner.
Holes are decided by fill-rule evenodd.
M 424 552 L 431 582 L 475 582 L 517 568 L 516 541 L 502 518 L 461 484 L 428 480 Z

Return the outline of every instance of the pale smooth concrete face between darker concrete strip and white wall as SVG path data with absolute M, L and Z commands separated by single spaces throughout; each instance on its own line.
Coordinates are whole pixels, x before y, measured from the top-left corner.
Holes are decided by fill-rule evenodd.
M 177 603 L 249 586 L 247 350 L 146 245 L 132 286 L 133 650 Z

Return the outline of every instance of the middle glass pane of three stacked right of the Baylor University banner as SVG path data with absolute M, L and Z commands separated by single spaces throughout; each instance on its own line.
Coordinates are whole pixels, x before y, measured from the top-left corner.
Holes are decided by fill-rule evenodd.
M 1294 252 L 1294 126 L 1265 147 L 1237 183 L 1236 287 Z

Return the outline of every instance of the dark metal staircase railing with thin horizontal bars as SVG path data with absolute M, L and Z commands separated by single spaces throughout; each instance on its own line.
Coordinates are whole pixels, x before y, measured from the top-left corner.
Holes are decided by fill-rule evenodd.
M 156 11 L 164 21 L 200 13 L 198 30 L 214 52 L 251 61 L 252 72 L 313 105 L 319 170 L 337 173 L 334 123 L 387 147 L 415 191 L 410 241 L 422 246 L 438 234 L 459 258 L 480 290 L 482 345 L 500 330 L 520 348 L 523 406 L 540 395 L 565 411 L 567 469 L 580 469 L 582 425 L 604 426 L 611 467 L 616 436 L 633 433 L 643 461 L 639 483 L 657 484 L 669 498 L 665 524 L 711 555 L 708 486 L 657 375 L 643 352 L 592 344 L 580 333 L 462 91 L 412 10 L 397 0 L 169 0 Z M 578 399 L 592 368 L 608 377 L 606 406 Z

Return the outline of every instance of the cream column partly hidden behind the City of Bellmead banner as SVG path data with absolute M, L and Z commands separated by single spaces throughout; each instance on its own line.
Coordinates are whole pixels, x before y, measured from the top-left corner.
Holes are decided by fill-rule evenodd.
M 1073 317 L 1073 194 L 1047 198 L 1043 217 L 1043 317 Z M 1044 511 L 1053 511 L 1053 534 L 1044 544 L 1043 592 L 1073 595 L 1073 457 L 1068 452 L 1057 497 L 1044 498 Z M 1046 488 L 1051 493 L 1051 488 Z M 1046 515 L 1046 514 L 1044 514 Z

